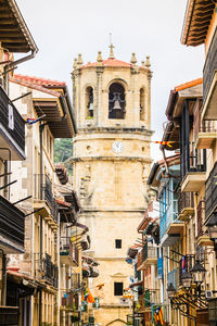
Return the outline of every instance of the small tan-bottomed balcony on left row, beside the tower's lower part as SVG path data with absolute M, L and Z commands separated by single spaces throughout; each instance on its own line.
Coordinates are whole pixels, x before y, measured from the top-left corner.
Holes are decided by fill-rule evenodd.
M 61 263 L 68 266 L 78 266 L 79 251 L 77 246 L 72 243 L 71 237 L 61 237 L 60 244 Z

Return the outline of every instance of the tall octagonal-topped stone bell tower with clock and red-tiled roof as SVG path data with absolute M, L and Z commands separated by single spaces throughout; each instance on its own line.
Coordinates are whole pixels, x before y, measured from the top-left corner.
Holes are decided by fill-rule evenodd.
M 73 99 L 78 134 L 74 139 L 74 189 L 84 208 L 91 251 L 100 263 L 92 288 L 104 284 L 95 323 L 126 321 L 123 289 L 129 286 L 131 267 L 127 249 L 137 238 L 137 226 L 148 206 L 150 173 L 151 76 L 150 60 L 137 64 L 108 59 L 99 51 L 97 62 L 74 61 Z M 122 322 L 123 321 L 123 322 Z

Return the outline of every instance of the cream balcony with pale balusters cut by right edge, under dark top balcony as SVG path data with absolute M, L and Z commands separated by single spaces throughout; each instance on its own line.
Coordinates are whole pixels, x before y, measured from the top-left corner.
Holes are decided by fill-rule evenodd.
M 200 101 L 196 102 L 194 110 L 194 139 L 197 149 L 210 149 L 217 139 L 217 121 L 201 121 Z

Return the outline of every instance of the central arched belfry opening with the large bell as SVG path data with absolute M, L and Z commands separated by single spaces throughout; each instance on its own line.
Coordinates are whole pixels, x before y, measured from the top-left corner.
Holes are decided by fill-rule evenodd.
M 108 118 L 125 118 L 125 88 L 119 83 L 113 83 L 108 90 Z

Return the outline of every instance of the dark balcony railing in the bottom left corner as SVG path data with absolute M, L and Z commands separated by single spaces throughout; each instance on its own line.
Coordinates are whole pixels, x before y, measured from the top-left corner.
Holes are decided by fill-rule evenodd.
M 18 306 L 0 306 L 0 326 L 18 326 Z

